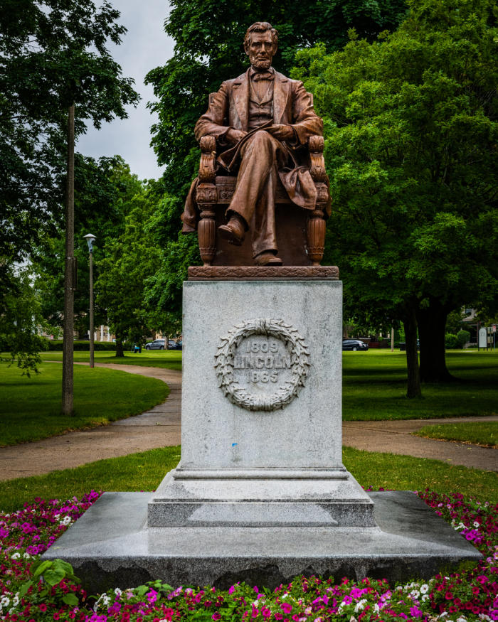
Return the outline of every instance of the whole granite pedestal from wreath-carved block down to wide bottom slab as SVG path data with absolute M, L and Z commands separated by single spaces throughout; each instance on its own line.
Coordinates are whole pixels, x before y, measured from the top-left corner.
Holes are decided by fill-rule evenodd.
M 179 466 L 152 495 L 105 493 L 43 557 L 90 592 L 401 581 L 480 559 L 413 493 L 368 495 L 342 464 L 337 269 L 236 269 L 184 284 Z

